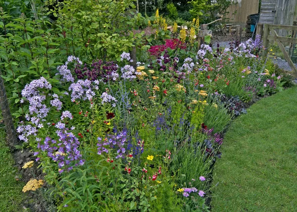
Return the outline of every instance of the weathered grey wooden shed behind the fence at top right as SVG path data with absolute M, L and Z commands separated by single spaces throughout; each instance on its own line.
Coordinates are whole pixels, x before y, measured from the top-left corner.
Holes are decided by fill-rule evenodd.
M 293 25 L 297 20 L 297 0 L 262 0 L 259 23 Z M 283 30 L 280 36 L 287 36 Z

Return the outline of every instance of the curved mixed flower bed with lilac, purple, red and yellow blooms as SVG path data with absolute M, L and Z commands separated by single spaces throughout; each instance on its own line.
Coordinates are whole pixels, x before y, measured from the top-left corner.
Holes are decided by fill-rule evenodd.
M 129 53 L 118 63 L 69 56 L 54 77 L 23 89 L 19 139 L 59 210 L 207 210 L 222 132 L 244 102 L 284 81 L 257 42 L 203 45 L 192 57 L 176 44 L 151 48 L 136 69 Z

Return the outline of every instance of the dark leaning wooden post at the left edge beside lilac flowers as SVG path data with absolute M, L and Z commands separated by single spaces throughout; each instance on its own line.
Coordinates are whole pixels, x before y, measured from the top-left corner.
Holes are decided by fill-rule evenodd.
M 14 149 L 14 146 L 17 144 L 17 137 L 15 133 L 15 129 L 13 126 L 13 120 L 10 113 L 10 108 L 6 96 L 4 81 L 1 77 L 2 72 L 0 70 L 0 107 L 4 119 L 6 134 L 8 138 L 8 145 L 11 149 Z

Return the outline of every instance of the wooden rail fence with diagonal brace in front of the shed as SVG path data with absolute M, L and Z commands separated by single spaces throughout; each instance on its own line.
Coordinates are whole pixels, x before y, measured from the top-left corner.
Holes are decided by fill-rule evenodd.
M 297 24 L 297 22 L 295 22 L 295 24 Z M 263 31 L 261 31 L 261 29 L 263 29 Z M 279 36 L 276 30 L 292 31 L 291 37 Z M 296 32 L 297 32 L 297 26 L 289 26 L 289 25 L 265 24 L 263 27 L 263 24 L 259 24 L 257 29 L 257 33 L 262 35 L 263 46 L 265 48 L 262 56 L 264 57 L 267 56 L 267 53 L 268 53 L 267 48 L 269 45 L 269 41 L 276 42 L 280 50 L 284 54 L 284 58 L 288 62 L 292 70 L 293 76 L 297 78 L 297 68 L 291 59 L 292 55 L 290 55 L 292 51 L 291 53 L 290 52 L 288 53 L 284 47 L 284 44 L 290 44 L 290 47 L 296 46 L 297 44 Z

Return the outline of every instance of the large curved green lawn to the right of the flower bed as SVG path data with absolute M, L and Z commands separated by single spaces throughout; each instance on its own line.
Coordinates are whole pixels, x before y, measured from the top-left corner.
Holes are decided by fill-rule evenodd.
M 213 212 L 297 211 L 297 87 L 235 120 L 214 169 Z

